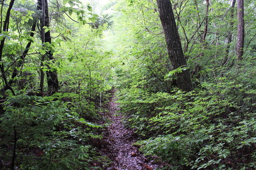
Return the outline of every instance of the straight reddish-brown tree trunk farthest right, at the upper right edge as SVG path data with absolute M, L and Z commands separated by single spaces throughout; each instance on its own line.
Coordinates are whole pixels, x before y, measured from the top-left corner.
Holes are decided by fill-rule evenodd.
M 244 54 L 244 0 L 237 0 L 237 59 L 241 60 Z

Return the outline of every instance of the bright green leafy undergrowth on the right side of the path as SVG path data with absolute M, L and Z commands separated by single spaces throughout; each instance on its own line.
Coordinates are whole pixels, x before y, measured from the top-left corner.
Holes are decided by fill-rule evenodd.
M 213 77 L 189 93 L 133 85 L 118 102 L 141 136 L 140 150 L 168 162 L 166 169 L 253 170 L 256 81 L 246 76 Z

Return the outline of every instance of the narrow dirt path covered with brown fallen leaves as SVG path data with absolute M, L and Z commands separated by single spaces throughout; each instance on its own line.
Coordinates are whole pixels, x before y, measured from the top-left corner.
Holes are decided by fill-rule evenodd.
M 105 118 L 111 121 L 111 125 L 105 130 L 102 139 L 105 148 L 101 152 L 113 162 L 105 170 L 155 170 L 157 167 L 162 167 L 154 160 L 145 158 L 139 149 L 132 145 L 136 142 L 136 134 L 133 130 L 124 127 L 122 119 L 125 116 L 118 112 L 119 107 L 114 95 L 108 107 L 109 113 Z

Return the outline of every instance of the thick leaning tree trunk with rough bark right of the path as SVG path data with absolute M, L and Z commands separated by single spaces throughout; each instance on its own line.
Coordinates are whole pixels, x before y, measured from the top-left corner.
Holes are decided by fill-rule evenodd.
M 183 54 L 175 17 L 172 11 L 170 0 L 157 0 L 159 17 L 166 37 L 166 44 L 169 58 L 174 69 L 186 66 L 186 60 Z M 183 91 L 192 91 L 192 82 L 189 76 L 189 70 L 186 69 L 177 73 L 177 87 Z

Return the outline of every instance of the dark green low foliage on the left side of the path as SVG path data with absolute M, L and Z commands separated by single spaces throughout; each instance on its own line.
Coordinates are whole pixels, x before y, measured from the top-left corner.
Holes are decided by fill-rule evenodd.
M 56 96 L 19 95 L 9 97 L 0 118 L 0 159 L 3 170 L 12 162 L 28 170 L 84 169 L 95 159 L 92 147 L 85 144 L 93 128 L 101 126 L 87 122 L 76 112 L 70 112 Z M 15 149 L 14 149 L 15 148 Z

